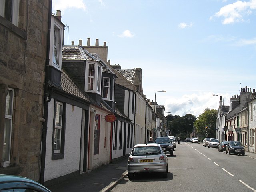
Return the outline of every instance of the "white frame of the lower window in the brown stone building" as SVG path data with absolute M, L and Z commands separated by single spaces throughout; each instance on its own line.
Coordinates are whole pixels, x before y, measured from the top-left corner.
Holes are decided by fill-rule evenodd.
M 12 88 L 8 88 L 8 91 L 12 91 L 12 98 L 11 99 L 11 105 L 9 105 L 9 110 L 10 110 L 10 114 L 6 114 L 6 110 L 5 110 L 5 119 L 10 120 L 10 135 L 9 135 L 9 143 L 8 143 L 8 160 L 3 161 L 3 167 L 8 167 L 10 164 L 10 153 L 11 153 L 11 136 L 12 136 L 12 117 L 13 117 L 13 102 L 14 102 L 14 89 Z M 7 101 L 6 101 L 7 102 Z M 10 100 L 9 100 L 10 103 Z M 6 106 L 7 107 L 7 106 Z M 7 108 L 6 108 L 7 109 Z M 6 126 L 4 126 L 4 138 L 6 135 Z M 5 140 L 5 139 L 4 139 Z M 7 146 L 7 144 L 5 144 L 5 146 Z

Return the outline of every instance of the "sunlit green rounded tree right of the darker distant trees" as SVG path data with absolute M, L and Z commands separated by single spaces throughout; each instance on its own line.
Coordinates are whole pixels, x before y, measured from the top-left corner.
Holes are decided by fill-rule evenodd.
M 216 137 L 216 114 L 217 110 L 206 108 L 204 113 L 198 116 L 194 122 L 194 127 L 198 134 L 202 134 L 206 137 Z

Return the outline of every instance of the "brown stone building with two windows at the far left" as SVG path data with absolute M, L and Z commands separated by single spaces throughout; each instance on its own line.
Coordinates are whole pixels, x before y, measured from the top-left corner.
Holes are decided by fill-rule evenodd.
M 50 1 L 0 1 L 0 174 L 40 179 Z

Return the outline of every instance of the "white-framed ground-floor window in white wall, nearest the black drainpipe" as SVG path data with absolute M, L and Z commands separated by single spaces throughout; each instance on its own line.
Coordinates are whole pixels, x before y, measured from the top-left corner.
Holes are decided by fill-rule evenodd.
M 56 102 L 55 128 L 54 128 L 54 153 L 60 153 L 61 151 L 62 114 L 63 114 L 63 104 L 60 102 Z

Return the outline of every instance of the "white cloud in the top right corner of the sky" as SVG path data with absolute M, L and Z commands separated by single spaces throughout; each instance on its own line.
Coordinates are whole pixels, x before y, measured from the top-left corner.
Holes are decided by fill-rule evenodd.
M 232 4 L 225 5 L 220 8 L 220 11 L 210 17 L 212 20 L 214 17 L 223 17 L 222 24 L 231 24 L 234 22 L 244 22 L 244 17 L 252 14 L 252 11 L 256 10 L 256 0 L 237 1 Z

